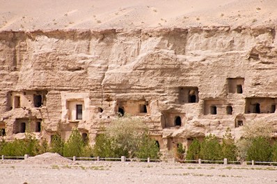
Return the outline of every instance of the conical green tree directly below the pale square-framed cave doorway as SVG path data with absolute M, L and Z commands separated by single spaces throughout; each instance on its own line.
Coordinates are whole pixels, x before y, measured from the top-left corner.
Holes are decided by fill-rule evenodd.
M 77 156 L 80 157 L 81 153 L 85 147 L 85 143 L 81 137 L 79 131 L 74 128 L 70 135 L 70 138 L 63 147 L 63 156 L 65 157 L 72 157 Z

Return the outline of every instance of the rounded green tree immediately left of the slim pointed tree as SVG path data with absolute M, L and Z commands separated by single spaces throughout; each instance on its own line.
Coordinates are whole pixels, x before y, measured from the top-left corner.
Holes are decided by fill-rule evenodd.
M 200 158 L 203 160 L 221 160 L 221 145 L 216 136 L 209 134 L 200 147 Z

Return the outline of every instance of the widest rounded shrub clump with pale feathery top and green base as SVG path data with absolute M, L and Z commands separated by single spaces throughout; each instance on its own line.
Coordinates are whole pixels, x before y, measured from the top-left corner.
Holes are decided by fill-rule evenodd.
M 141 119 L 124 115 L 113 121 L 104 134 L 97 135 L 93 155 L 102 158 L 159 158 L 159 147 L 150 138 Z

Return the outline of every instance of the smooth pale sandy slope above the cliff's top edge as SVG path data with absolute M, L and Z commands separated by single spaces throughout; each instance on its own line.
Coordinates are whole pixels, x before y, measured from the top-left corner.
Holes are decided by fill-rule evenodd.
M 0 31 L 276 25 L 276 0 L 0 0 Z

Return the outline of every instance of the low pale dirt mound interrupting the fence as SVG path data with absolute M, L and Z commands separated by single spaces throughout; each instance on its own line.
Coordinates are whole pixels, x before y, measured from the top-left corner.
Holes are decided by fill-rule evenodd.
M 24 164 L 70 164 L 73 161 L 60 156 L 58 153 L 43 153 L 42 155 L 29 157 L 26 160 L 22 160 Z

